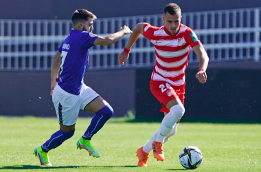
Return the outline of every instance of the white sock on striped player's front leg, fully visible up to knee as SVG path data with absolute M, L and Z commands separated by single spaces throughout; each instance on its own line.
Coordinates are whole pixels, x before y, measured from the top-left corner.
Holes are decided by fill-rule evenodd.
M 183 105 L 174 105 L 170 108 L 170 112 L 163 118 L 161 127 L 159 127 L 156 142 L 164 142 L 164 139 L 172 131 L 175 123 L 183 116 L 185 109 Z

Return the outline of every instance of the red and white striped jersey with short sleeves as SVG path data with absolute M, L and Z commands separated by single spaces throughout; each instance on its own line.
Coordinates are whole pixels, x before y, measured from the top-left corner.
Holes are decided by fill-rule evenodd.
M 173 86 L 183 85 L 190 47 L 201 43 L 193 30 L 180 24 L 177 33 L 171 35 L 165 26 L 157 28 L 146 24 L 143 35 L 155 47 L 156 64 L 151 79 L 166 81 Z

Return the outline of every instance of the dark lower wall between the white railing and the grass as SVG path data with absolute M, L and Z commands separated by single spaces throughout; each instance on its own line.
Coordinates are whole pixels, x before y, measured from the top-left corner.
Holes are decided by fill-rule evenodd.
M 198 65 L 186 70 L 183 121 L 261 122 L 261 63 L 210 64 L 207 83 L 194 77 Z M 150 92 L 150 68 L 89 71 L 84 80 L 113 107 L 115 117 L 136 110 L 139 121 L 160 121 L 161 104 Z M 56 116 L 49 96 L 49 72 L 0 72 L 0 115 Z M 80 116 L 93 116 L 80 111 Z

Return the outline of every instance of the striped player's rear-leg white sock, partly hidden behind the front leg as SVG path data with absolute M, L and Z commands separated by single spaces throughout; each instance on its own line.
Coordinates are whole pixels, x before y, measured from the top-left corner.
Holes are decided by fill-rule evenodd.
M 170 136 L 173 136 L 175 133 L 177 133 L 177 127 L 178 127 L 179 123 L 176 123 L 173 127 L 173 129 L 170 131 L 170 133 L 168 133 L 168 135 L 166 136 L 164 142 L 167 142 L 170 139 Z M 159 130 L 158 130 L 159 131 Z M 143 147 L 143 151 L 145 151 L 146 153 L 150 153 L 150 151 L 152 151 L 152 142 L 157 138 L 158 136 L 158 131 L 156 131 L 152 137 L 150 138 L 150 140 L 148 140 L 148 142 L 144 145 Z

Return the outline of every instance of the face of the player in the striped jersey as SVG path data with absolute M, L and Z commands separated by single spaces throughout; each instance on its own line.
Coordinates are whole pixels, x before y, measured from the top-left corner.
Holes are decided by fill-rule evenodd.
M 176 34 L 179 30 L 179 24 L 181 23 L 181 11 L 178 12 L 176 15 L 172 15 L 168 12 L 164 14 L 164 17 L 162 17 L 163 22 L 165 23 L 166 30 L 170 34 Z

